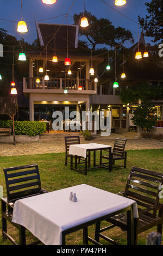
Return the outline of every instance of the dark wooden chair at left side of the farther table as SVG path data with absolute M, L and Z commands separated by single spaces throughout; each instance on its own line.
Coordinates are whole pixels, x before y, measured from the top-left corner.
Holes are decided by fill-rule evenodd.
M 65 137 L 65 166 L 67 166 L 67 163 L 71 163 L 71 161 L 68 161 L 68 157 L 71 157 L 71 155 L 69 154 L 69 148 L 70 145 L 73 144 L 80 144 L 80 137 L 79 136 L 66 136 Z M 73 158 L 75 158 L 73 156 Z M 82 156 L 76 156 L 76 159 L 78 160 L 78 163 L 84 162 L 84 157 Z M 90 163 L 90 153 L 89 155 L 87 155 L 87 160 Z

